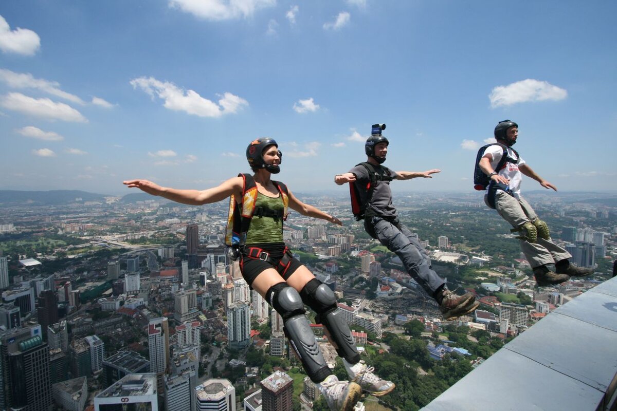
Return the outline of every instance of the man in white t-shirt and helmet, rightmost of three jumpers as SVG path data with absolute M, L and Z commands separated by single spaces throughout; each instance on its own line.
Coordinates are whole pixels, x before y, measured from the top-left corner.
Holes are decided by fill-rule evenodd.
M 547 224 L 538 218 L 529 203 L 521 197 L 523 174 L 539 182 L 545 189 L 557 191 L 557 187 L 540 177 L 511 148 L 517 138 L 518 124 L 514 121 L 503 120 L 495 127 L 495 139 L 499 144 L 487 147 L 478 163 L 482 172 L 491 178 L 484 201 L 514 227 L 513 232 L 521 232 L 518 237 L 521 250 L 534 271 L 537 285 L 558 284 L 570 277 L 592 274 L 593 269 L 570 264 L 569 258 L 572 255 L 552 242 Z M 498 170 L 504 149 L 507 160 Z

